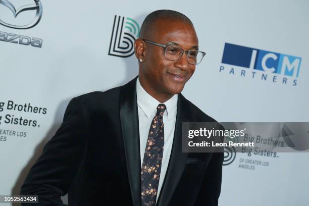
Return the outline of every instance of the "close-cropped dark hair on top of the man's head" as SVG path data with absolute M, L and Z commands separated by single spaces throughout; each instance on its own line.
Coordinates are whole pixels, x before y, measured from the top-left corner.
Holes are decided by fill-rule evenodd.
M 152 34 L 157 30 L 156 22 L 159 19 L 179 21 L 193 26 L 191 20 L 179 12 L 173 10 L 157 10 L 146 16 L 140 28 L 139 38 L 151 39 Z

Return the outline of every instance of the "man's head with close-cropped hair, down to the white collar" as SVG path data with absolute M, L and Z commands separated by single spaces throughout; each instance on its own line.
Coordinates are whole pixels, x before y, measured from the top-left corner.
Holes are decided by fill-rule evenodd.
M 160 102 L 180 93 L 195 71 L 188 62 L 189 53 L 181 53 L 178 60 L 166 57 L 165 45 L 172 54 L 176 47 L 184 51 L 198 50 L 198 38 L 192 22 L 183 14 L 159 10 L 149 14 L 134 42 L 138 60 L 138 78 L 145 91 Z

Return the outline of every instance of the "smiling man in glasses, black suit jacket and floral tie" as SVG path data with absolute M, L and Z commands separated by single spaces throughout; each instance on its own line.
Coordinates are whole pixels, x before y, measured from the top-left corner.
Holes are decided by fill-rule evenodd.
M 180 93 L 204 53 L 181 13 L 149 14 L 138 77 L 73 98 L 22 186 L 41 205 L 217 205 L 223 153 L 183 153 L 182 122 L 215 122 Z M 150 127 L 150 129 L 149 129 Z

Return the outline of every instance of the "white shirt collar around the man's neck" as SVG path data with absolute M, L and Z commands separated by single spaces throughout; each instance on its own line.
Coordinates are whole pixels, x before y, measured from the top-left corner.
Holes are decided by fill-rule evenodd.
M 167 120 L 169 118 L 173 118 L 177 112 L 177 99 L 178 95 L 173 95 L 166 102 L 160 103 L 157 99 L 153 98 L 150 94 L 148 94 L 142 85 L 139 82 L 139 77 L 136 80 L 136 96 L 137 96 L 137 104 L 145 113 L 147 118 L 151 116 L 155 116 L 157 112 L 157 106 L 159 104 L 164 104 L 166 106 L 166 112 L 163 116 L 167 116 Z

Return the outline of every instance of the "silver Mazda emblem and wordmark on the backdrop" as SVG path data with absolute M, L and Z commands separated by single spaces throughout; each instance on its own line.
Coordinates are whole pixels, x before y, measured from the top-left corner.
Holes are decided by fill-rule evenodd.
M 13 12 L 13 15 L 15 18 L 22 12 L 29 11 L 29 10 L 36 11 L 33 20 L 26 25 L 17 25 L 16 23 L 15 24 L 8 23 L 4 21 L 3 19 L 4 17 L 1 16 L 1 14 L 0 14 L 0 24 L 6 27 L 13 28 L 13 29 L 30 29 L 36 26 L 42 18 L 43 7 L 42 7 L 40 0 L 33 0 L 33 1 L 34 1 L 34 4 L 24 5 L 16 10 L 14 5 L 10 1 L 0 0 L 0 7 L 5 6 L 7 9 L 10 9 Z M 14 34 L 14 33 L 7 33 L 7 32 L 2 32 L 2 31 L 0 31 L 0 41 L 19 43 L 22 45 L 31 45 L 31 46 L 39 47 L 39 48 L 42 47 L 42 42 L 43 42 L 43 40 L 40 38 L 31 38 L 29 36 L 24 36 L 24 35 L 19 35 L 19 34 Z

